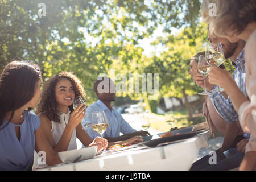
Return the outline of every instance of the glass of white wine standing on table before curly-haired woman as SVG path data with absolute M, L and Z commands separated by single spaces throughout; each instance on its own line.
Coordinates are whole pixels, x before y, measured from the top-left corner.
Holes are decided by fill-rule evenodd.
M 108 119 L 106 118 L 104 111 L 92 113 L 92 128 L 97 131 L 97 133 L 101 134 L 101 139 L 103 139 L 102 134 L 106 131 L 108 126 Z M 103 153 L 105 153 L 105 150 Z

